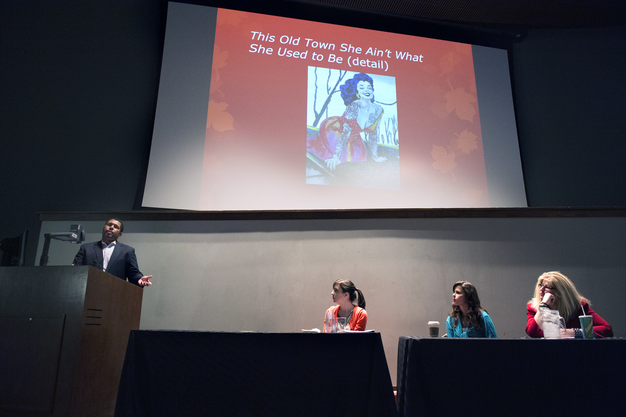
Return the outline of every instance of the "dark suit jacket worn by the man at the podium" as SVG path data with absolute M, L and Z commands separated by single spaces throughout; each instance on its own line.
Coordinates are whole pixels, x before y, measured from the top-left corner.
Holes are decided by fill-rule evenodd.
M 102 242 L 91 242 L 89 244 L 81 245 L 78 250 L 78 254 L 74 257 L 74 265 L 91 265 L 98 269 L 102 269 Z M 137 266 L 137 257 L 135 256 L 135 249 L 128 245 L 116 242 L 115 249 L 111 254 L 108 264 L 106 264 L 106 272 L 111 275 L 115 275 L 118 278 L 135 285 L 143 274 Z

